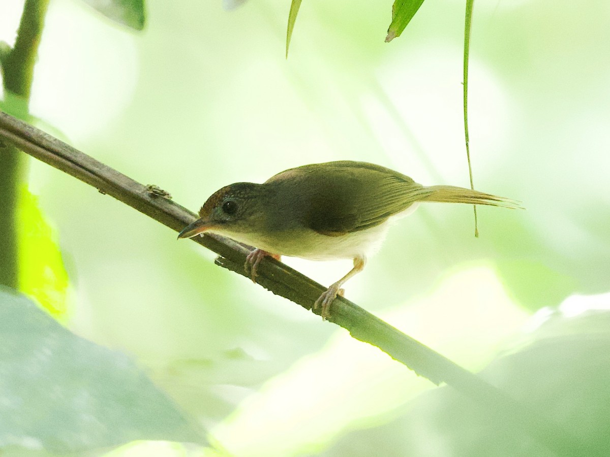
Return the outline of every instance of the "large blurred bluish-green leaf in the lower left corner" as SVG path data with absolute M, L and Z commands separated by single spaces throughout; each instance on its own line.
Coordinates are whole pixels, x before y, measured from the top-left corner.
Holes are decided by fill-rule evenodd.
M 0 288 L 0 448 L 78 453 L 139 439 L 205 442 L 123 353 Z

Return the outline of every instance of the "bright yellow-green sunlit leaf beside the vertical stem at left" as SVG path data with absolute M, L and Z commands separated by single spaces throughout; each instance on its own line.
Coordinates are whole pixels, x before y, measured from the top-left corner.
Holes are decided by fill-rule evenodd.
M 38 202 L 21 190 L 17 213 L 19 233 L 19 288 L 34 297 L 60 322 L 68 316 L 68 274 L 63 266 L 57 237 L 45 221 Z

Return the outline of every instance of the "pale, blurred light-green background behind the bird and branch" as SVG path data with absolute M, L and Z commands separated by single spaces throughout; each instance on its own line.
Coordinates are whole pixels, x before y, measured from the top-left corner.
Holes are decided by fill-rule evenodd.
M 22 7 L 4 2 L 0 40 L 12 43 Z M 464 2 L 424 2 L 384 43 L 391 2 L 308 0 L 286 60 L 288 10 L 149 0 L 137 33 L 81 1 L 51 0 L 31 113 L 192 210 L 228 183 L 318 161 L 468 186 Z M 526 211 L 479 207 L 476 239 L 472 207 L 421 205 L 347 284 L 349 299 L 472 370 L 567 297 L 576 310 L 608 308 L 609 21 L 610 4 L 592 0 L 475 4 L 475 188 Z M 109 196 L 29 168 L 68 271 L 68 328 L 131 355 L 217 448 L 373 455 L 391 443 L 381 455 L 459 455 L 414 451 L 396 427 L 433 384 Z M 350 267 L 285 261 L 325 285 Z M 201 453 L 214 451 L 141 442 L 110 455 Z

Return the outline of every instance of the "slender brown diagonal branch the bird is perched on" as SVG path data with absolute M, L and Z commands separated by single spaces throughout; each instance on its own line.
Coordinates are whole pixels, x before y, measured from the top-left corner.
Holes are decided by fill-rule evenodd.
M 142 185 L 57 138 L 0 112 L 0 147 L 2 143 L 22 149 L 176 232 L 196 218 L 191 211 L 163 197 L 163 193 L 156 188 Z M 243 267 L 249 252 L 247 247 L 214 235 L 197 236 L 193 240 L 218 253 L 217 264 L 247 277 Z M 264 288 L 307 310 L 325 291 L 323 286 L 310 278 L 269 257 L 260 263 L 257 280 Z M 520 425 L 523 432 L 554 452 L 561 455 L 593 455 L 587 444 L 578 441 L 566 430 L 349 300 L 337 297 L 331 305 L 329 321 L 346 328 L 354 338 L 379 347 L 433 383 L 445 382 L 485 408 L 496 411 L 498 420 Z

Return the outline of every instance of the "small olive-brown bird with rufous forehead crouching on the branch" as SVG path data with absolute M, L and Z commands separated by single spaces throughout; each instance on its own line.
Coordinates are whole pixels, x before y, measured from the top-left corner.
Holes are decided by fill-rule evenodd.
M 390 219 L 411 213 L 419 202 L 520 208 L 516 200 L 455 186 L 426 187 L 389 168 L 343 160 L 291 168 L 262 184 L 224 186 L 178 238 L 212 232 L 256 246 L 245 264 L 253 280 L 266 255 L 353 259 L 353 269 L 314 303 L 326 318 L 332 300 L 343 295 L 343 283 L 362 271 L 367 254 L 383 241 Z

